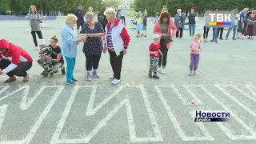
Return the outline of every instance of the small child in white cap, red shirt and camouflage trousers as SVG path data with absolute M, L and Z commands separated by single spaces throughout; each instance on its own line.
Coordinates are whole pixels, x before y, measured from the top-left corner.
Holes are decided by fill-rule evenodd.
M 154 34 L 153 35 L 154 42 L 150 44 L 150 72 L 149 72 L 149 78 L 156 78 L 159 79 L 157 75 L 158 71 L 158 61 L 159 61 L 159 54 L 162 54 L 160 50 L 160 38 L 161 35 Z M 152 76 L 152 72 L 154 72 L 154 75 Z

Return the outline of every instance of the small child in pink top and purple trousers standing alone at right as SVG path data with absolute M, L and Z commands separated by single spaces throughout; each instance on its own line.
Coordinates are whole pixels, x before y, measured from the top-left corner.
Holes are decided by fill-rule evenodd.
M 190 74 L 195 75 L 196 71 L 198 70 L 199 58 L 200 58 L 200 51 L 202 51 L 202 43 L 200 41 L 202 35 L 201 34 L 194 34 L 194 40 L 190 43 Z

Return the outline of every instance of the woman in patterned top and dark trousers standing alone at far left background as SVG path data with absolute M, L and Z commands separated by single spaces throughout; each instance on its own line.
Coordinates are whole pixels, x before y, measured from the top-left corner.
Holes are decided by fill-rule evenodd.
M 26 18 L 30 19 L 31 35 L 34 41 L 34 46 L 39 50 L 36 34 L 38 34 L 39 39 L 43 39 L 40 27 L 42 16 L 38 13 L 37 8 L 34 5 L 30 5 L 30 12 L 26 14 Z

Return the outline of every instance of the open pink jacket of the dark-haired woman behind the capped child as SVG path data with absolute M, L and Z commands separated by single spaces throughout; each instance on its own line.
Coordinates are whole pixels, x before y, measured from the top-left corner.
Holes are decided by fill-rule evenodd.
M 170 19 L 169 22 L 169 26 L 168 26 L 168 32 L 167 32 L 167 36 L 168 37 L 173 37 L 173 34 L 176 34 L 177 28 L 173 22 L 173 20 Z M 162 35 L 162 30 L 161 30 L 161 26 L 160 26 L 160 21 L 158 20 L 158 22 L 155 22 L 154 25 L 154 34 L 160 34 Z M 170 48 L 172 42 L 169 42 L 166 44 L 167 49 Z

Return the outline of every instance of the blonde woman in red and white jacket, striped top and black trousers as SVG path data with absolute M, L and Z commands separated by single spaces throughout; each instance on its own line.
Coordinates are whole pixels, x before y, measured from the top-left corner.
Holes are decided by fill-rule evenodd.
M 130 42 L 130 36 L 126 30 L 126 26 L 116 18 L 116 12 L 112 8 L 105 10 L 104 14 L 108 23 L 106 24 L 105 45 L 103 53 L 106 50 L 110 54 L 110 64 L 113 75 L 110 77 L 112 84 L 118 84 L 121 79 L 122 59 L 127 54 L 127 48 Z

